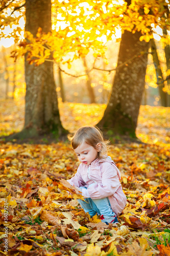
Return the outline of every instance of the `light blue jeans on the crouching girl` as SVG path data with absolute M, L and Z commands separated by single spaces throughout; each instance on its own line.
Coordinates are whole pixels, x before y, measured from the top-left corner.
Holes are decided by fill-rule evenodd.
M 91 185 L 91 184 L 90 184 Z M 87 187 L 80 187 L 86 188 Z M 82 206 L 85 212 L 88 212 L 90 217 L 94 215 L 105 215 L 105 216 L 113 216 L 114 212 L 111 209 L 110 202 L 108 197 L 101 198 L 101 199 L 91 199 L 85 198 L 85 201 L 78 199 L 79 204 Z

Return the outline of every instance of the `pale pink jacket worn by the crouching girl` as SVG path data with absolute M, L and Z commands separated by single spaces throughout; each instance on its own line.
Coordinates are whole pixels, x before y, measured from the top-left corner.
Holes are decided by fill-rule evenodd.
M 82 195 L 91 199 L 108 197 L 112 210 L 117 216 L 126 206 L 126 196 L 120 184 L 120 171 L 110 157 L 95 159 L 90 165 L 81 163 L 77 173 L 70 180 L 71 185 L 84 186 Z M 92 184 L 90 187 L 89 185 Z

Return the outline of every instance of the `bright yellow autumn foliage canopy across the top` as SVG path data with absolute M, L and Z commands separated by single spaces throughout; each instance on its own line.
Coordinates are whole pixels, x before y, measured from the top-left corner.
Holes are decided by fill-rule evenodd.
M 15 56 L 28 54 L 28 61 L 41 64 L 51 58 L 56 62 L 69 63 L 76 58 L 84 57 L 89 49 L 93 49 L 94 56 L 103 54 L 103 40 L 110 40 L 117 29 L 135 33 L 141 31 L 140 40 L 149 41 L 157 26 L 162 29 L 169 27 L 168 3 L 165 1 L 51 1 L 52 2 L 52 31 L 45 33 L 39 28 L 36 36 L 30 31 L 25 32 L 25 38 L 20 40 L 21 30 L 19 19 L 25 17 L 25 2 L 4 1 L 1 17 L 4 18 L 1 28 L 13 24 L 14 32 L 8 36 L 15 36 L 20 42 Z M 16 15 L 17 13 L 17 15 Z M 17 17 L 16 17 L 16 16 Z M 164 37 L 165 44 L 169 37 Z M 72 53 L 69 58 L 68 53 Z M 34 57 L 34 58 L 33 58 Z

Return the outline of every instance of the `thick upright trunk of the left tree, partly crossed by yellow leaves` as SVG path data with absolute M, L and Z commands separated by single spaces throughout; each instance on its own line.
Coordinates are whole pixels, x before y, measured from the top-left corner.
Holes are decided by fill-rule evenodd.
M 26 30 L 36 36 L 38 28 L 47 33 L 52 29 L 51 0 L 26 0 Z M 63 129 L 53 74 L 53 62 L 36 67 L 25 57 L 26 112 L 25 126 L 20 137 L 34 137 L 53 132 L 60 136 Z

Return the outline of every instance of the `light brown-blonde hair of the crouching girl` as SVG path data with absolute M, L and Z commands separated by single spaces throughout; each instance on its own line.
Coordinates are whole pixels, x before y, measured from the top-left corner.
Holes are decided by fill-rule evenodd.
M 98 127 L 82 126 L 73 136 L 68 135 L 68 139 L 71 142 L 71 146 L 74 150 L 83 142 L 94 147 L 95 149 L 97 149 L 96 144 L 101 143 L 102 148 L 98 153 L 98 158 L 107 157 L 107 144 L 109 141 L 104 141 L 103 134 Z

